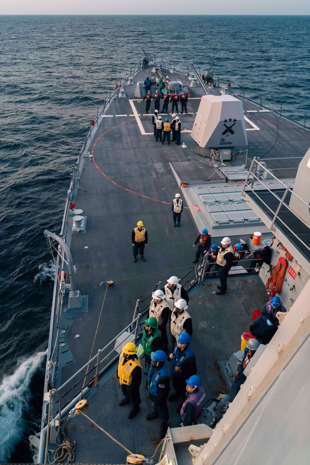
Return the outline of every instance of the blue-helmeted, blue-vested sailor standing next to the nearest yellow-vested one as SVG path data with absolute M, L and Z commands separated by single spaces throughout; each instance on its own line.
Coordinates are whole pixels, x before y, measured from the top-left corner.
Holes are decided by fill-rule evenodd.
M 158 418 L 161 420 L 159 438 L 165 438 L 169 412 L 167 407 L 167 398 L 170 390 L 171 374 L 168 366 L 165 364 L 167 356 L 164 351 L 157 350 L 151 353 L 151 366 L 147 375 L 147 384 L 145 390 L 148 391 L 152 400 L 154 412 L 146 415 L 147 420 Z

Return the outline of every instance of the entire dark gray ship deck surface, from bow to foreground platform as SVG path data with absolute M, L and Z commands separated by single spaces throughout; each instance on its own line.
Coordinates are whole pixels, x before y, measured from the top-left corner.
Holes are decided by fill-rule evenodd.
M 148 73 L 152 75 L 151 68 Z M 134 82 L 145 80 L 146 74 L 140 71 Z M 164 75 L 170 77 L 167 70 Z M 175 79 L 185 81 L 187 78 L 173 74 Z M 137 299 L 145 299 L 158 280 L 165 285 L 171 275 L 185 275 L 194 259 L 192 244 L 198 230 L 188 209 L 182 213 L 181 227 L 173 227 L 171 201 L 179 186 L 169 163 L 192 163 L 193 169 L 188 170 L 192 179 L 207 179 L 214 173 L 214 168 L 207 166 L 203 157 L 191 152 L 190 133 L 181 136 L 186 149 L 174 143 L 163 146 L 156 142 L 151 123 L 153 103 L 151 114 L 144 115 L 145 102 L 139 103 L 133 97 L 134 90 L 135 86 L 125 87 L 126 98 L 113 101 L 109 106 L 92 135 L 89 150 L 93 150 L 94 162 L 84 158 L 80 176 L 82 187 L 78 190 L 76 207 L 87 215 L 86 233 L 68 233 L 67 244 L 77 267 L 77 288 L 88 295 L 88 311 L 67 310 L 61 316 L 61 327 L 68 329 L 66 354 L 69 356 L 66 364 L 63 358 L 59 359 L 61 370 L 57 385 L 64 383 L 88 361 L 101 309 L 92 355 L 131 321 Z M 211 89 L 211 93 L 218 91 Z M 191 89 L 188 112 L 192 114 L 180 115 L 183 128 L 191 130 L 203 94 L 201 87 Z M 276 146 L 268 154 L 274 161 L 272 166 L 271 162 L 267 166 L 285 168 L 274 171 L 279 177 L 294 176 L 296 171 L 292 166 L 298 166 L 298 159 L 290 158 L 304 155 L 310 146 L 310 133 L 282 118 L 278 118 L 277 123 L 272 113 L 259 112 L 260 109 L 251 103 L 243 104 L 245 111 L 255 110 L 249 113 L 250 122 L 246 123 L 248 146 L 252 147 L 249 159 L 266 153 L 277 138 Z M 251 122 L 259 130 L 254 130 Z M 241 150 L 244 148 L 240 147 Z M 287 159 L 277 160 L 279 157 Z M 234 164 L 237 162 L 231 162 L 232 166 Z M 241 164 L 240 160 L 238 164 Z M 131 232 L 140 219 L 149 235 L 146 261 L 143 263 L 138 258 L 137 263 L 133 263 Z M 107 289 L 102 308 L 105 286 L 99 283 L 109 279 L 115 281 L 115 286 Z M 221 297 L 214 294 L 216 288 L 211 283 L 212 280 L 206 286 L 200 286 L 189 303 L 194 328 L 192 348 L 197 353 L 198 374 L 203 378 L 209 397 L 226 389 L 216 360 L 229 358 L 239 349 L 240 335 L 248 329 L 253 310 L 261 308 L 265 300 L 264 288 L 256 278 L 234 281 L 234 287 L 231 286 L 230 291 Z M 78 339 L 76 334 L 79 334 Z M 68 362 L 70 354 L 71 363 Z M 145 392 L 141 412 L 131 421 L 125 414 L 128 406 L 120 408 L 117 405 L 119 394 L 117 381 L 110 379 L 90 398 L 89 416 L 133 452 L 152 455 L 159 424 L 158 421 L 144 421 L 145 413 L 149 411 Z M 175 420 L 171 410 L 171 423 Z M 66 430 L 69 438 L 77 441 L 76 462 L 125 463 L 124 451 L 102 432 L 90 427 L 85 419 L 71 420 Z

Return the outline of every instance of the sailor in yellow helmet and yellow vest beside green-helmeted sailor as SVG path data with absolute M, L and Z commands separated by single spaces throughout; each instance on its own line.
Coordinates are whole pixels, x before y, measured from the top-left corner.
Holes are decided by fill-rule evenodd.
M 119 356 L 119 367 L 117 377 L 120 388 L 124 394 L 124 399 L 119 405 L 132 403 L 132 410 L 128 413 L 128 418 L 132 419 L 140 410 L 141 398 L 139 387 L 141 384 L 142 371 L 141 363 L 137 358 L 138 348 L 134 342 L 128 342 L 123 345 L 122 352 Z

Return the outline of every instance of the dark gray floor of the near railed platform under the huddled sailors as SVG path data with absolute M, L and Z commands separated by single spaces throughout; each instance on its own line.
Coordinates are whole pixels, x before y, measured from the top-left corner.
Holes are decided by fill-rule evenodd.
M 220 392 L 228 393 L 217 360 L 229 359 L 233 352 L 240 350 L 241 334 L 249 329 L 253 311 L 261 308 L 265 300 L 264 286 L 256 277 L 231 279 L 229 291 L 221 299 L 215 294 L 217 290 L 216 283 L 208 281 L 199 287 L 189 303 L 194 328 L 191 346 L 196 354 L 198 374 L 203 381 L 206 400 L 217 397 Z M 130 404 L 123 407 L 118 405 L 123 395 L 116 376 L 109 379 L 90 399 L 86 413 L 129 450 L 151 457 L 159 442 L 157 435 L 160 420 L 145 420 L 145 415 L 152 411 L 144 389 L 145 382 L 146 375 L 142 375 L 142 403 L 134 419 L 127 418 Z M 179 400 L 168 402 L 171 426 L 176 425 L 179 418 L 175 412 L 178 404 Z M 70 440 L 77 443 L 76 462 L 125 463 L 126 452 L 82 416 L 68 422 L 66 433 Z

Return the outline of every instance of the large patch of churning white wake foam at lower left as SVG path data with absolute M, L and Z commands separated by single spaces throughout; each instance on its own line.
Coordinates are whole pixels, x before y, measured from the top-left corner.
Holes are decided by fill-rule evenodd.
M 0 385 L 0 462 L 8 463 L 13 447 L 20 441 L 25 428 L 24 412 L 31 408 L 30 382 L 46 352 L 38 352 L 20 360 L 10 376 Z M 30 434 L 31 432 L 29 432 Z

